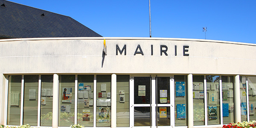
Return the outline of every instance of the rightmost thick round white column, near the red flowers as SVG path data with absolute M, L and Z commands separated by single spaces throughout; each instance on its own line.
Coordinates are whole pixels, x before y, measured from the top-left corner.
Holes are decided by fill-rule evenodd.
M 239 75 L 235 76 L 235 113 L 236 113 L 236 122 L 241 122 L 241 106 L 240 106 L 240 79 Z

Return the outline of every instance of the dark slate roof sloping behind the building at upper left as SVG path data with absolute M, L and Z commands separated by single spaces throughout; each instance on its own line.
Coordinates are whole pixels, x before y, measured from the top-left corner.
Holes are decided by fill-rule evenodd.
M 1 38 L 102 37 L 71 17 L 0 0 Z

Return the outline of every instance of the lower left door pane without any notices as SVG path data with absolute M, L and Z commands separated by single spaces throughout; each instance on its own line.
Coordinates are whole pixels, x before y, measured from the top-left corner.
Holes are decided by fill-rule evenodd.
M 134 107 L 134 126 L 150 126 L 150 107 Z

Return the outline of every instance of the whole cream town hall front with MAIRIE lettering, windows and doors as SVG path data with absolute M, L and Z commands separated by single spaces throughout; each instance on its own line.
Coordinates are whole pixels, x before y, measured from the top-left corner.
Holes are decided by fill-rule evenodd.
M 0 48 L 4 125 L 203 128 L 256 119 L 255 44 L 22 38 Z

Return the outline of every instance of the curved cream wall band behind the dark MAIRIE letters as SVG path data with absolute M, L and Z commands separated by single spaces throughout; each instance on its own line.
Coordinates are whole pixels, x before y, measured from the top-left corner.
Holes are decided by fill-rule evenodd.
M 1 40 L 0 73 L 192 73 L 255 75 L 256 45 L 176 38 L 32 38 Z M 126 44 L 127 54 L 116 55 Z M 140 44 L 144 55 L 134 52 Z M 151 55 L 153 45 L 154 55 Z M 160 55 L 160 45 L 168 56 Z M 175 45 L 177 56 L 175 56 Z M 189 46 L 183 56 L 183 46 Z M 163 48 L 165 49 L 165 48 Z

